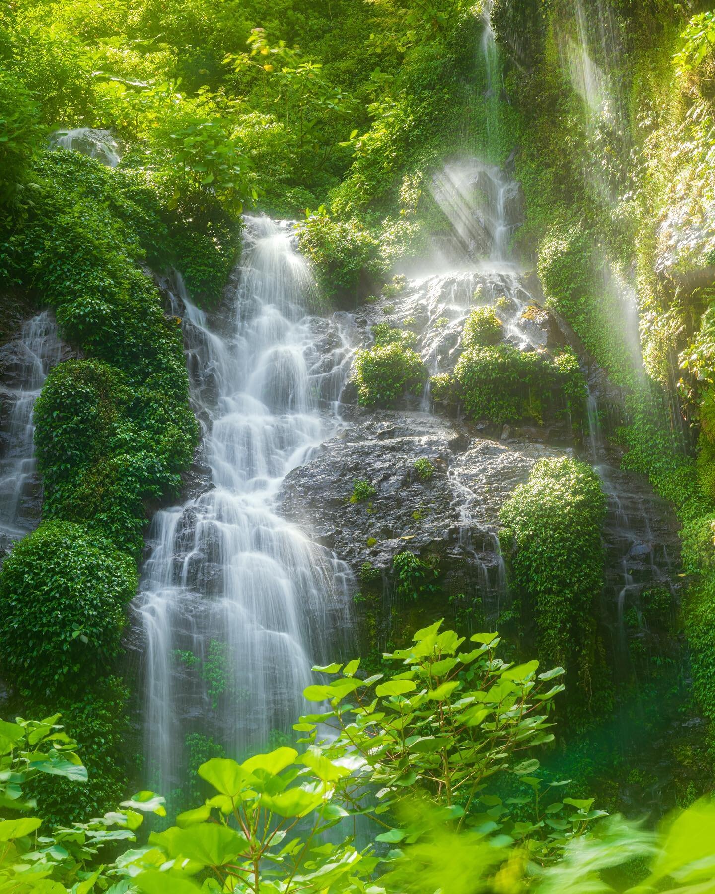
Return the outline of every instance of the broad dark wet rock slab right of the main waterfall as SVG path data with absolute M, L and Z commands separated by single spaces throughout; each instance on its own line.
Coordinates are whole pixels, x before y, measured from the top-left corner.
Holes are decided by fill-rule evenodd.
M 537 460 L 559 455 L 523 439 L 492 440 L 429 413 L 355 408 L 345 421 L 285 478 L 279 503 L 283 515 L 356 572 L 363 562 L 387 570 L 406 550 L 439 556 L 459 573 L 496 567 L 501 504 Z M 419 477 L 421 459 L 432 463 L 432 477 Z M 374 486 L 372 499 L 350 502 L 357 480 Z

